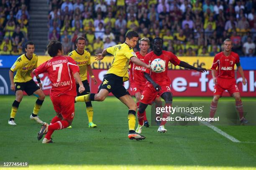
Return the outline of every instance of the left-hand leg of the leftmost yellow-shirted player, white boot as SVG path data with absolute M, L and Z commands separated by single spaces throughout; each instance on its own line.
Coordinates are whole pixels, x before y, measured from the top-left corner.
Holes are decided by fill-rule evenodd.
M 13 102 L 12 109 L 10 112 L 10 119 L 8 121 L 9 125 L 16 125 L 16 123 L 14 122 L 14 118 L 18 111 L 20 102 L 23 98 L 23 90 L 18 90 L 18 89 L 23 89 L 22 85 L 20 85 L 19 83 L 15 85 L 15 100 Z

